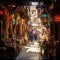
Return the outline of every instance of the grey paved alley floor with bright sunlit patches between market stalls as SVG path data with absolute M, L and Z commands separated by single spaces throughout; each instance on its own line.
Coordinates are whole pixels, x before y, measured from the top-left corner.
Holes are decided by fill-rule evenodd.
M 24 46 L 22 51 L 16 57 L 16 60 L 42 60 L 42 56 L 39 54 L 37 41 L 30 42 L 27 46 Z

